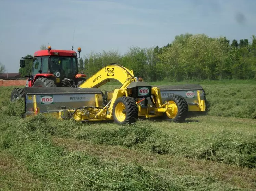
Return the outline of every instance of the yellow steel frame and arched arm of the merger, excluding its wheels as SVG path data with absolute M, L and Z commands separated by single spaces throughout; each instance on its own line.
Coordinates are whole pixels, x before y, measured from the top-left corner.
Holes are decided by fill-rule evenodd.
M 92 77 L 87 79 L 83 84 L 80 85 L 80 88 L 93 88 L 100 87 L 103 84 L 106 84 L 109 80 L 115 79 L 118 80 L 122 86 L 119 89 L 115 89 L 113 93 L 112 99 L 109 103 L 102 109 L 97 108 L 88 108 L 87 113 L 83 111 L 83 109 L 77 110 L 73 118 L 78 121 L 88 120 L 88 121 L 102 121 L 102 120 L 112 120 L 113 119 L 113 105 L 115 100 L 122 96 L 128 96 L 130 94 L 130 90 L 127 89 L 127 86 L 136 81 L 136 78 L 133 74 L 132 70 L 128 70 L 125 67 L 120 65 L 110 65 L 102 68 Z M 151 89 L 151 94 L 153 96 L 154 105 L 148 105 L 147 108 L 142 108 L 141 105 L 138 105 L 138 115 L 149 117 L 157 117 L 163 115 L 164 112 L 172 112 L 172 107 L 168 107 L 168 103 L 162 102 L 162 97 L 160 93 L 160 89 L 158 87 L 153 87 Z M 205 109 L 204 100 L 200 100 L 200 90 L 197 91 L 198 94 L 198 103 L 200 103 L 200 110 Z M 36 97 L 34 95 L 34 108 L 37 107 Z M 99 106 L 98 96 L 95 95 L 96 107 Z M 195 106 L 197 107 L 197 106 Z M 73 113 L 74 110 L 66 110 L 67 112 Z M 39 112 L 39 111 L 38 111 Z M 63 112 L 63 111 L 62 111 Z M 58 113 L 58 116 L 63 115 L 63 113 Z

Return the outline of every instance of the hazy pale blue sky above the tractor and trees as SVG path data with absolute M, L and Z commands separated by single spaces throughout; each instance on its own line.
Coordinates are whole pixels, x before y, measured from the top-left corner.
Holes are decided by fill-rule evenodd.
M 256 34 L 256 0 L 0 0 L 0 62 L 9 73 L 39 50 L 82 48 L 125 53 L 130 46 L 164 46 L 175 35 L 233 39 Z

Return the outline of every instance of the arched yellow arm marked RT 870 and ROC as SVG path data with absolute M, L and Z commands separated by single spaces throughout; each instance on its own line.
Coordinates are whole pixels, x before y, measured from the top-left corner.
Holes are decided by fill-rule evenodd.
M 102 68 L 92 77 L 87 79 L 80 88 L 98 88 L 106 84 L 110 79 L 118 80 L 121 84 L 121 88 L 126 88 L 131 81 L 136 81 L 136 78 L 132 70 L 129 70 L 121 65 L 109 65 Z

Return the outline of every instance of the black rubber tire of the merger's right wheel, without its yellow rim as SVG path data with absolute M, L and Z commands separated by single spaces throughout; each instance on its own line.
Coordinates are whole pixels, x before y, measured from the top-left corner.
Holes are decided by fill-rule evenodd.
M 164 114 L 163 114 L 164 119 L 168 120 L 168 121 L 177 122 L 177 123 L 184 122 L 188 115 L 188 104 L 187 104 L 187 101 L 185 100 L 185 98 L 183 98 L 181 95 L 172 94 L 168 98 L 166 98 L 165 101 L 166 102 L 168 102 L 168 101 L 175 102 L 178 112 L 174 118 L 168 117 L 167 113 L 164 112 Z M 165 101 L 164 101 L 164 103 L 165 103 Z

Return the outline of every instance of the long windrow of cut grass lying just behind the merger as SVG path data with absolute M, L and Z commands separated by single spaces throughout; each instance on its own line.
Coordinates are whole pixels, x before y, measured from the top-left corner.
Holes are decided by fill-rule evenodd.
M 164 122 L 138 121 L 129 127 L 120 127 L 116 124 L 82 125 L 73 121 L 56 122 L 50 116 L 38 115 L 27 119 L 24 125 L 28 131 L 38 130 L 62 138 L 89 140 L 95 144 L 256 167 L 256 130 L 253 129 L 253 123 L 247 124 L 251 129 L 247 132 L 234 131 L 232 128 L 221 128 L 221 131 L 211 133 L 207 129 L 199 128 L 190 131 L 185 124 L 179 125 L 180 131 L 168 132 L 162 130 L 164 125 L 168 125 Z M 173 129 L 175 125 L 169 124 L 169 128 Z M 191 132 L 190 136 L 187 135 L 188 131 Z

